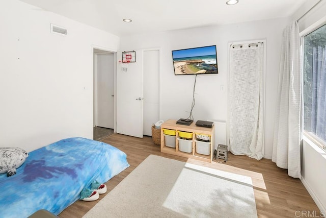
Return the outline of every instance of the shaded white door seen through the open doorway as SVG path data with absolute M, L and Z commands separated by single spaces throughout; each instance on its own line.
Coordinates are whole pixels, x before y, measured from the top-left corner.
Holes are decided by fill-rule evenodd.
M 96 126 L 114 129 L 114 54 L 97 55 Z

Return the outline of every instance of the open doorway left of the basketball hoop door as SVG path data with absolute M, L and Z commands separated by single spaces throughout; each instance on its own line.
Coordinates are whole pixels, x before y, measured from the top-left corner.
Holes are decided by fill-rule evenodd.
M 115 129 L 115 53 L 94 48 L 94 140 Z

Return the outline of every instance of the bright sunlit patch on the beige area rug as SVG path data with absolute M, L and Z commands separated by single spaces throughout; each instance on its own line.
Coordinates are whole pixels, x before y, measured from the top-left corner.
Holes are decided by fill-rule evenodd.
M 188 217 L 257 216 L 250 177 L 192 163 L 185 163 L 162 206 Z

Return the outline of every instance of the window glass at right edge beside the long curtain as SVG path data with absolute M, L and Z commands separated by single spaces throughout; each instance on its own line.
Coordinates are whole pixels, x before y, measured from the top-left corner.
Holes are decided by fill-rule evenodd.
M 326 25 L 304 37 L 304 130 L 326 148 Z

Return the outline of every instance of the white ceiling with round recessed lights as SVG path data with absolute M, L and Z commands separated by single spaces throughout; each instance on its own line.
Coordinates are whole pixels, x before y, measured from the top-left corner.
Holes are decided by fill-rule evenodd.
M 226 0 L 20 1 L 122 36 L 289 17 L 307 0 L 239 0 L 234 6 Z

